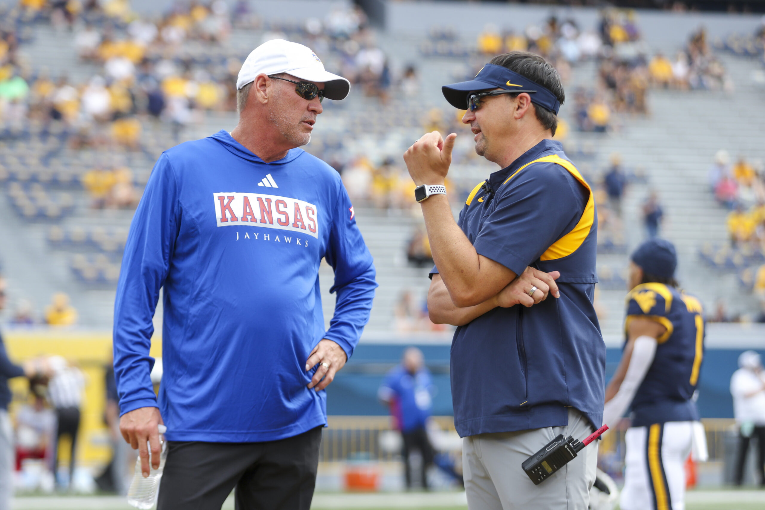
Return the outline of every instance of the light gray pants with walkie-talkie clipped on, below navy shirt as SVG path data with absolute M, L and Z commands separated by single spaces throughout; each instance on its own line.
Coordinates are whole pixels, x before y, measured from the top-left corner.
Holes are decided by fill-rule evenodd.
M 579 440 L 594 432 L 574 408 L 568 425 L 463 438 L 462 471 L 470 510 L 587 510 L 597 468 L 597 441 L 538 486 L 521 464 L 558 434 Z

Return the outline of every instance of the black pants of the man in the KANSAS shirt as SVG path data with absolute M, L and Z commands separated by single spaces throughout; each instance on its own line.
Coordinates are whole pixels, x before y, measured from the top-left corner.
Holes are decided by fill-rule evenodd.
M 231 489 L 236 510 L 309 510 L 321 427 L 263 443 L 168 441 L 158 510 L 220 510 Z

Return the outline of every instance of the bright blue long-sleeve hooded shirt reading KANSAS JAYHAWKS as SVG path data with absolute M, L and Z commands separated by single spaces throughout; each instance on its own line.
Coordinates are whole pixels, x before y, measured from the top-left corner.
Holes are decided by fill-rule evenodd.
M 324 330 L 318 269 L 334 268 Z M 149 356 L 164 287 L 158 401 Z M 375 269 L 334 169 L 301 149 L 266 164 L 227 132 L 165 151 L 135 212 L 117 287 L 122 414 L 158 406 L 168 440 L 278 440 L 326 424 L 305 362 L 323 338 L 351 356 Z

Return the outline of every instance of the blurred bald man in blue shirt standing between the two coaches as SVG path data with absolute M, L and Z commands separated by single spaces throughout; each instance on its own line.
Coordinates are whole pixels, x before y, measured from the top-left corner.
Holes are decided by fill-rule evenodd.
M 431 388 L 430 371 L 425 367 L 422 351 L 409 347 L 404 351 L 401 364 L 388 372 L 378 391 L 380 400 L 390 407 L 396 428 L 401 430 L 407 489 L 412 488 L 412 450 L 419 450 L 422 455 L 420 480 L 422 488 L 428 489 L 425 473 L 433 463 L 433 447 L 427 430 L 433 407 Z

